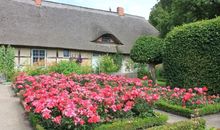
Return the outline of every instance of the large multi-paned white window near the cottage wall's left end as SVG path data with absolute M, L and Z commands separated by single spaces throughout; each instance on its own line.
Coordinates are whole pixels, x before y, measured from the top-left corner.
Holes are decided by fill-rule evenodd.
M 33 63 L 45 61 L 45 50 L 33 49 L 32 50 Z

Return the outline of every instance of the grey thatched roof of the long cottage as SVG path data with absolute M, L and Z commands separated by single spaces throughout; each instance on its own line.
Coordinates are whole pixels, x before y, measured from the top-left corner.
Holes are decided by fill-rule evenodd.
M 113 34 L 130 52 L 140 35 L 158 35 L 143 17 L 44 1 L 0 0 L 0 44 L 116 52 L 112 45 L 92 42 Z

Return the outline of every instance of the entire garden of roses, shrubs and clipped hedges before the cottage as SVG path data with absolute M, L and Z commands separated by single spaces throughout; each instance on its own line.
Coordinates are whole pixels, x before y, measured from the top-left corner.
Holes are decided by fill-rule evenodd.
M 112 75 L 119 54 L 102 56 L 96 70 L 61 61 L 16 71 L 11 47 L 0 49 L 0 73 L 36 130 L 205 130 L 203 116 L 220 112 L 219 50 L 217 17 L 175 27 L 164 39 L 138 38 L 130 53 L 138 78 Z M 170 124 L 155 109 L 189 120 Z

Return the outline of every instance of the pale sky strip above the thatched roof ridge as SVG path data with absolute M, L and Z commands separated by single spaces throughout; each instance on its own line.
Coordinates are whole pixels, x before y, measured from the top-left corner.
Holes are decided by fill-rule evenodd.
M 158 0 L 49 0 L 59 3 L 78 5 L 83 7 L 116 11 L 117 7 L 123 7 L 125 13 L 143 16 L 148 19 L 151 8 Z

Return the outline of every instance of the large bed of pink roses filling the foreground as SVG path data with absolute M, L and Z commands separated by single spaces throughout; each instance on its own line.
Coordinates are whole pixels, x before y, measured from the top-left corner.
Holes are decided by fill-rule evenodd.
M 15 91 L 23 91 L 25 110 L 45 129 L 57 130 L 94 129 L 118 119 L 156 119 L 152 105 L 159 95 L 150 90 L 140 79 L 105 74 L 23 74 L 15 82 Z

